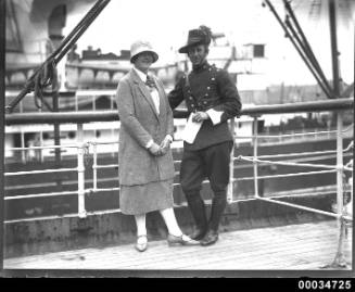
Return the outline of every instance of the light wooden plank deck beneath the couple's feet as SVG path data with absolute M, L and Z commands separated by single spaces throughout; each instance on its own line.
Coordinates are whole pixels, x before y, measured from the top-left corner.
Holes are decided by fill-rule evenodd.
M 174 246 L 149 242 L 49 253 L 4 259 L 4 269 L 159 269 L 159 270 L 322 270 L 338 250 L 335 220 L 225 232 L 211 246 Z M 352 228 L 344 240 L 352 269 Z M 329 268 L 328 268 L 329 269 Z

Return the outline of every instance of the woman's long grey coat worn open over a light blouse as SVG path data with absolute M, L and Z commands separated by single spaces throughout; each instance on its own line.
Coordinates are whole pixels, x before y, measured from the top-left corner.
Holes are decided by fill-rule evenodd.
M 172 151 L 157 157 L 145 148 L 151 139 L 161 144 L 166 135 L 174 135 L 173 112 L 166 93 L 162 82 L 153 78 L 160 96 L 160 114 L 149 89 L 134 69 L 118 82 L 119 185 L 144 185 L 174 178 Z

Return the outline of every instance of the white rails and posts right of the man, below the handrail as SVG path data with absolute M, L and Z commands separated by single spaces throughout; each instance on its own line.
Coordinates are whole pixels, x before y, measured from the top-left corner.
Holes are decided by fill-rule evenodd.
M 231 122 L 233 123 L 233 122 Z M 279 204 L 288 207 L 293 207 L 306 212 L 312 212 L 316 214 L 321 214 L 325 216 L 334 217 L 338 219 L 338 249 L 335 256 L 333 258 L 333 262 L 330 265 L 327 265 L 325 267 L 331 267 L 331 268 L 339 268 L 339 267 L 346 267 L 346 261 L 344 257 L 344 237 L 346 233 L 346 226 L 348 224 L 352 225 L 353 223 L 353 160 L 351 160 L 347 164 L 343 164 L 343 153 L 352 151 L 354 148 L 353 141 L 343 149 L 343 136 L 345 132 L 347 132 L 351 128 L 353 128 L 354 125 L 352 124 L 346 129 L 343 129 L 343 112 L 338 111 L 337 112 L 337 150 L 335 151 L 317 151 L 313 152 L 313 154 L 325 154 L 325 153 L 337 153 L 337 165 L 326 165 L 326 164 L 314 164 L 314 163 L 300 163 L 300 162 L 292 162 L 291 160 L 288 161 L 271 161 L 268 158 L 280 158 L 287 156 L 288 158 L 292 158 L 294 156 L 300 155 L 309 155 L 309 152 L 304 153 L 288 153 L 288 154 L 276 154 L 276 155 L 258 155 L 258 140 L 265 139 L 265 138 L 277 138 L 280 136 L 289 136 L 289 135 L 276 135 L 276 136 L 269 136 L 269 135 L 257 135 L 257 116 L 254 116 L 253 120 L 253 135 L 251 137 L 236 137 L 238 138 L 251 138 L 253 143 L 253 156 L 243 156 L 239 155 L 238 157 L 234 157 L 233 154 L 231 154 L 231 161 L 244 161 L 253 164 L 253 177 L 244 177 L 234 179 L 233 177 L 230 177 L 230 186 L 232 186 L 233 181 L 239 180 L 253 180 L 254 181 L 254 199 L 272 203 L 272 204 Z M 300 134 L 304 135 L 304 134 Z M 308 135 L 312 135 L 309 132 Z M 295 173 L 295 174 L 282 174 L 282 175 L 272 175 L 272 176 L 258 176 L 258 166 L 261 165 L 282 165 L 282 166 L 293 166 L 293 167 L 302 167 L 302 168 L 322 168 L 325 170 L 316 170 L 316 172 L 303 172 L 303 173 Z M 231 168 L 232 169 L 232 168 Z M 351 173 L 350 178 L 350 192 L 351 198 L 348 204 L 351 205 L 350 208 L 344 207 L 344 172 Z M 305 175 L 316 175 L 316 174 L 326 174 L 326 173 L 335 173 L 337 174 L 337 212 L 327 212 L 314 207 L 303 206 L 294 203 L 283 202 L 280 200 L 277 200 L 278 198 L 263 198 L 258 193 L 258 180 L 261 179 L 278 179 L 281 177 L 292 177 L 292 176 L 305 176 Z M 232 200 L 232 187 L 229 187 L 228 191 L 228 199 L 229 202 L 233 202 Z M 348 212 L 348 210 L 351 210 Z

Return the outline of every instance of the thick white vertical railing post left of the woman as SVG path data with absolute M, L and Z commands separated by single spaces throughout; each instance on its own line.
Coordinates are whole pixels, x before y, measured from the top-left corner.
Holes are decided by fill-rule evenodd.
M 78 144 L 78 215 L 80 218 L 86 217 L 85 210 L 85 162 L 84 162 L 84 128 L 83 124 L 77 124 L 77 144 Z

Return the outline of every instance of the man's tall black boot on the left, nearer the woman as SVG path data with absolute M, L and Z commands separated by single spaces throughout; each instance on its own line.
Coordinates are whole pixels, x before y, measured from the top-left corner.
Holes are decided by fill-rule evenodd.
M 207 231 L 207 217 L 205 204 L 200 196 L 200 193 L 189 193 L 186 195 L 189 208 L 195 223 L 195 231 L 189 237 L 193 240 L 202 239 Z

